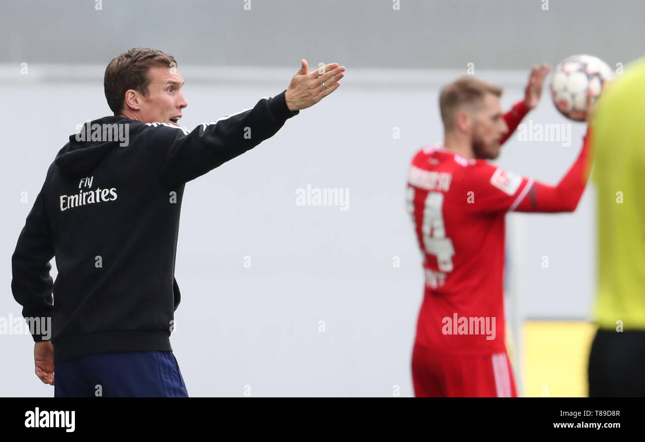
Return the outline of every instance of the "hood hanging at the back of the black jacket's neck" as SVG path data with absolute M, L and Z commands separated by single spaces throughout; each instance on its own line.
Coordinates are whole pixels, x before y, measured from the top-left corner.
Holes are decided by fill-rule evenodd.
M 112 149 L 128 146 L 130 137 L 142 126 L 141 121 L 117 116 L 86 122 L 78 133 L 70 135 L 54 162 L 63 175 L 85 177 Z

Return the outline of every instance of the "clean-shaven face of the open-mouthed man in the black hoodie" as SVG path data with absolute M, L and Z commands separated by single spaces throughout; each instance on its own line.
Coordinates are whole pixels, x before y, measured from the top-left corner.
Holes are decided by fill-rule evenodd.
M 164 122 L 179 126 L 181 110 L 188 102 L 181 93 L 184 79 L 177 68 L 153 66 L 148 70 L 152 79 L 148 85 L 148 97 L 137 92 L 139 110 L 137 117 L 144 123 Z

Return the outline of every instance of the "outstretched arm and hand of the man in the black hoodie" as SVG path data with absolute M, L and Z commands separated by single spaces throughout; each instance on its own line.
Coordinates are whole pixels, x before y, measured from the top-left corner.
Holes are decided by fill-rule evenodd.
M 344 66 L 332 63 L 309 72 L 306 60 L 301 62 L 285 91 L 261 99 L 252 109 L 201 124 L 190 133 L 169 125 L 150 130 L 148 152 L 162 179 L 176 184 L 204 175 L 272 137 L 287 119 L 339 88 Z

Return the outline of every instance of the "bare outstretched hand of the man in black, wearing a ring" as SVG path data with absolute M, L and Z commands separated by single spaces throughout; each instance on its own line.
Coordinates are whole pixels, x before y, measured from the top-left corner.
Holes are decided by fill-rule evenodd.
M 303 59 L 301 62 L 300 70 L 293 75 L 284 93 L 286 105 L 291 111 L 306 109 L 321 101 L 341 86 L 339 80 L 345 75 L 345 67 L 338 63 L 327 64 L 309 72 L 307 61 Z

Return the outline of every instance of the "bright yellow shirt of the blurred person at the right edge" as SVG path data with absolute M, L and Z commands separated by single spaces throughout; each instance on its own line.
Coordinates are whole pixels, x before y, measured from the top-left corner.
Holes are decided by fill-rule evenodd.
M 602 329 L 645 329 L 645 57 L 603 91 L 591 122 Z

